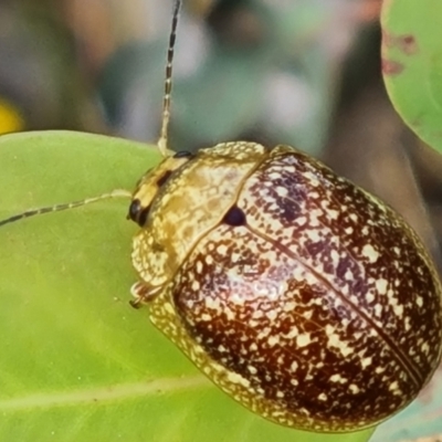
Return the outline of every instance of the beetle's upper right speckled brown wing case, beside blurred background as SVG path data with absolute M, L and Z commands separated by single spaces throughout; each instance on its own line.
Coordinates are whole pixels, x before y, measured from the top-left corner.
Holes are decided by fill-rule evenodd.
M 284 222 L 284 204 L 275 194 L 278 185 L 270 178 L 275 173 L 281 175 L 277 180 L 287 190 L 285 199 L 298 204 L 302 214 L 297 220 L 307 219 L 302 225 L 296 220 Z M 313 186 L 314 181 L 320 186 Z M 332 186 L 333 191 L 327 190 Z M 424 251 L 415 248 L 415 236 L 409 234 L 403 221 L 301 152 L 269 159 L 248 180 L 245 192 L 255 199 L 240 199 L 239 207 L 245 212 L 263 200 L 269 210 L 255 219 L 249 217 L 249 225 L 293 256 L 312 263 L 332 287 L 370 318 L 414 382 L 421 385 L 421 372 L 434 365 L 428 357 L 430 348 L 441 341 L 440 299 L 433 295 L 438 280 L 422 260 Z M 308 198 L 298 198 L 303 192 Z

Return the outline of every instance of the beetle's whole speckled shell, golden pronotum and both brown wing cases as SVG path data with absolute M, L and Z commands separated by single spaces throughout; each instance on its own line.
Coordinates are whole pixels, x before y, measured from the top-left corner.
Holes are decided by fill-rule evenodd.
M 180 187 L 152 206 L 158 224 L 135 240 L 146 287 L 165 282 L 150 304 L 154 324 L 224 391 L 277 423 L 351 431 L 403 408 L 442 347 L 441 287 L 419 239 L 383 203 L 291 147 L 227 144 L 211 155 L 223 149 L 252 158 L 242 178 L 233 172 L 236 187 L 199 193 L 179 175 Z M 189 224 L 172 229 L 175 191 L 190 236 Z M 223 206 L 203 206 L 217 198 Z M 203 231 L 192 204 L 210 218 Z M 224 222 L 232 207 L 245 224 Z M 167 238 L 181 256 L 172 266 L 155 246 Z

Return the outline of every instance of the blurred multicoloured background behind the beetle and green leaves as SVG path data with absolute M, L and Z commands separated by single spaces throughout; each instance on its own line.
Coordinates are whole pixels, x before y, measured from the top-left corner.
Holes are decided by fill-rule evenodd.
M 185 3 L 170 147 L 294 145 L 393 206 L 441 269 L 442 159 L 386 95 L 381 0 Z M 170 21 L 166 0 L 0 0 L 0 134 L 73 129 L 155 143 Z M 381 425 L 373 441 L 436 441 L 436 391 L 441 372 L 413 419 Z

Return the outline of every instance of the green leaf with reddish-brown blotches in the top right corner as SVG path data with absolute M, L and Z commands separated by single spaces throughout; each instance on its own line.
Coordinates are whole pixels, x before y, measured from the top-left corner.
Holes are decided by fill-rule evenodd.
M 382 73 L 393 106 L 442 151 L 440 0 L 388 0 L 382 8 Z

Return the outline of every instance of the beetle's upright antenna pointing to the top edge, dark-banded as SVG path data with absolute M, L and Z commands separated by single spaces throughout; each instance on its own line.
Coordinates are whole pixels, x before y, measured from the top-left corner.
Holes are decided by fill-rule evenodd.
M 172 92 L 172 64 L 173 64 L 173 51 L 175 40 L 177 38 L 177 25 L 178 17 L 181 8 L 181 0 L 175 0 L 172 25 L 169 34 L 169 46 L 167 50 L 167 62 L 166 62 L 166 81 L 165 81 L 165 95 L 162 98 L 162 118 L 161 118 L 161 131 L 158 140 L 158 149 L 164 157 L 167 157 L 167 137 L 170 120 L 170 95 Z

